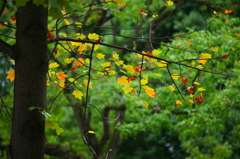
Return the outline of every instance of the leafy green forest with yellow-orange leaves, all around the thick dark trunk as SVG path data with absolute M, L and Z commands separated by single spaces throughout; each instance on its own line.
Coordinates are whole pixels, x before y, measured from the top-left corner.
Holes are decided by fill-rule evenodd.
M 24 5 L 1 10 L 2 158 L 15 69 L 4 48 Z M 45 118 L 44 158 L 240 158 L 239 5 L 50 0 L 47 108 L 28 108 Z

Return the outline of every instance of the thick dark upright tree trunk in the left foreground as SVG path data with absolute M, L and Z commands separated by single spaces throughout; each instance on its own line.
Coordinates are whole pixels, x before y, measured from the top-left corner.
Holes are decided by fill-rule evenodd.
M 16 13 L 14 107 L 10 159 L 43 159 L 46 107 L 47 8 L 32 0 Z M 41 108 L 29 110 L 30 107 Z

